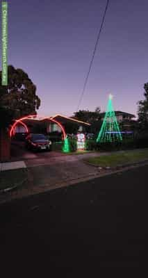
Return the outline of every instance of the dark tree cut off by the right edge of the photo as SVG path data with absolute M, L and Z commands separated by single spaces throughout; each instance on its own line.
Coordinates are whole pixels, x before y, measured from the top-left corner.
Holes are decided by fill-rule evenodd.
M 141 131 L 148 133 L 148 83 L 144 85 L 145 100 L 138 102 L 138 126 Z

